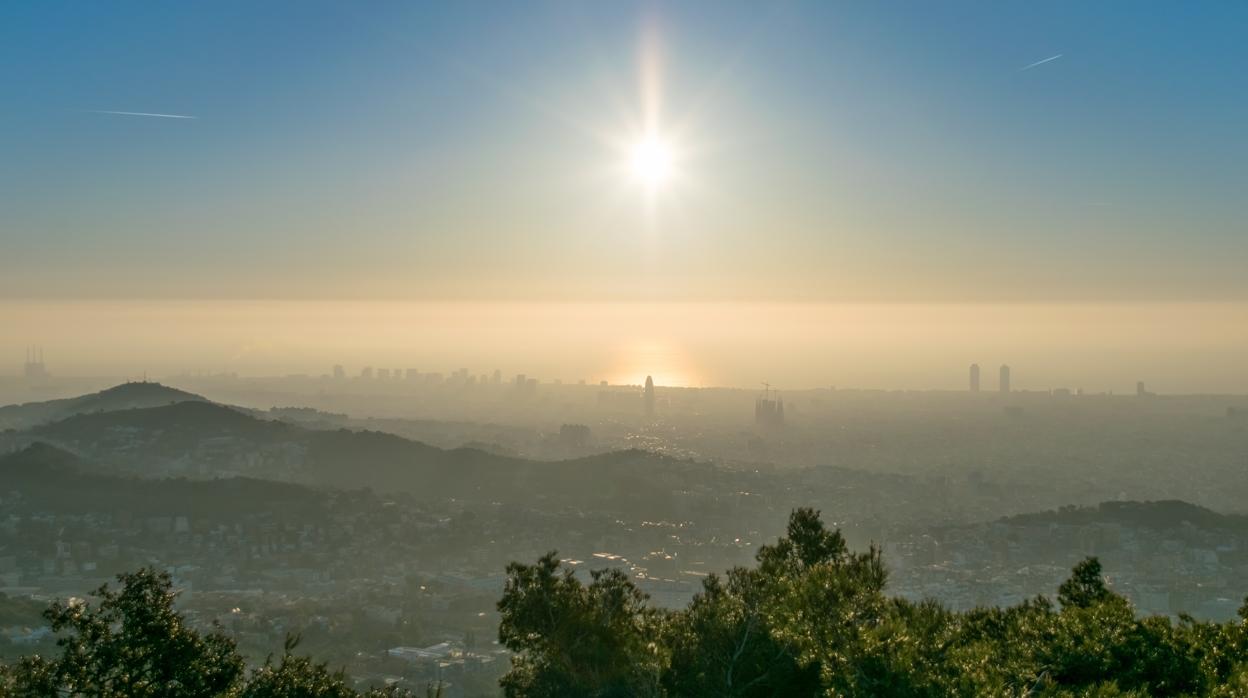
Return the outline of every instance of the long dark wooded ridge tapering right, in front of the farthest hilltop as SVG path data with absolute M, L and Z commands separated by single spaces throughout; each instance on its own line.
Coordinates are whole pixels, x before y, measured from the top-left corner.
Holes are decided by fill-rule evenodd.
M 418 497 L 670 511 L 674 493 L 729 474 L 644 451 L 530 461 L 372 431 L 308 430 L 211 402 L 76 415 L 27 432 L 142 477 L 248 476 Z

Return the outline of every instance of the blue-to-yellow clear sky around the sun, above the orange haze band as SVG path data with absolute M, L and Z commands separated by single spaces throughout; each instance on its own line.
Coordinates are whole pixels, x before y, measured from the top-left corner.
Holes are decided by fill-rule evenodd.
M 69 315 L 0 343 L 86 300 L 1246 302 L 1246 35 L 1242 2 L 10 2 L 0 307 Z

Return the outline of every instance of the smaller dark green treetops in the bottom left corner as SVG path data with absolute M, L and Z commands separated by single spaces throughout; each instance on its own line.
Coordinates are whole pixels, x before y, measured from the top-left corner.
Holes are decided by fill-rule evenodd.
M 44 617 L 64 633 L 57 658 L 24 657 L 0 667 L 0 696 L 14 698 L 353 698 L 341 672 L 296 657 L 288 638 L 281 662 L 272 658 L 246 676 L 232 639 L 190 628 L 173 607 L 168 574 L 141 569 L 119 578 L 119 591 L 94 592 L 95 606 L 56 602 Z M 373 692 L 369 696 L 399 696 Z

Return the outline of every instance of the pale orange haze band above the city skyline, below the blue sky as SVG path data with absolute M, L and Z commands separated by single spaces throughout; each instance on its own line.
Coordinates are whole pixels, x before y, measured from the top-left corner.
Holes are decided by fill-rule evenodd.
M 1246 393 L 1237 305 L 24 302 L 0 308 L 0 376 L 27 345 L 61 375 L 280 376 L 334 363 L 504 368 L 640 385 L 965 390 L 966 366 L 1020 387 Z M 765 327 L 766 331 L 760 328 Z M 2 355 L 0 355 L 2 356 Z M 990 380 L 991 378 L 991 380 Z M 995 376 L 985 377 L 995 387 Z M 991 383 L 991 385 L 990 385 Z

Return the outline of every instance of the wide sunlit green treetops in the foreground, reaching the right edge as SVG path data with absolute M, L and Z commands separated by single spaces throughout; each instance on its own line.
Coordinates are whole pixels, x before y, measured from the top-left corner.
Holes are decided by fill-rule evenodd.
M 512 564 L 507 694 L 1248 697 L 1248 602 L 1233 623 L 1137 618 L 1096 558 L 1060 606 L 965 613 L 890 599 L 880 552 L 850 552 L 811 509 L 756 559 L 678 612 L 646 608 L 618 573 L 587 587 L 554 553 Z

